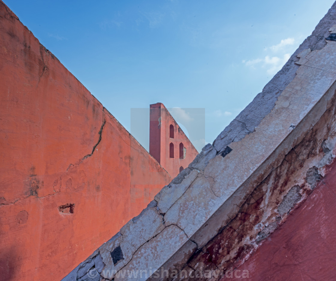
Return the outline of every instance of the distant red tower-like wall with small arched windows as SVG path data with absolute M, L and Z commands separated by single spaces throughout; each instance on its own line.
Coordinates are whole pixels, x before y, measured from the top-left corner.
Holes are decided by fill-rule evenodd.
M 174 126 L 174 138 L 170 138 L 169 127 Z M 169 144 L 174 145 L 174 158 L 169 157 Z M 183 143 L 186 148 L 184 159 L 179 158 L 179 145 Z M 198 151 L 184 134 L 180 126 L 162 103 L 150 105 L 150 154 L 172 176 L 179 174 L 195 159 Z

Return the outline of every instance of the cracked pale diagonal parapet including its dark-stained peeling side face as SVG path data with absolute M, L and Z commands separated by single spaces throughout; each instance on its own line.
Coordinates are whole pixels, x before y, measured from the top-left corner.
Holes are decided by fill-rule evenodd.
M 335 157 L 336 42 L 325 39 L 334 25 L 335 3 L 213 145 L 64 280 L 170 280 L 161 269 L 244 262 L 309 196 Z M 289 192 L 295 202 L 286 203 Z M 213 243 L 216 237 L 222 244 Z M 130 278 L 132 270 L 146 274 Z

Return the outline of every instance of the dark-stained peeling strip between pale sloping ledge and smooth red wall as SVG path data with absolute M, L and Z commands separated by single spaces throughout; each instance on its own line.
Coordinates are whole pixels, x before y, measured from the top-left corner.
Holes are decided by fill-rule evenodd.
M 209 270 L 225 273 L 230 268 L 236 267 L 238 270 L 246 270 L 244 261 L 251 254 L 253 256 L 253 251 L 258 248 L 260 242 L 286 222 L 290 211 L 305 202 L 310 194 L 314 194 L 313 190 L 330 170 L 328 164 L 336 153 L 335 86 L 332 91 L 334 95 L 319 121 L 303 135 L 295 135 L 299 143 L 286 154 L 279 155 L 279 159 L 276 159 L 267 176 L 262 176 L 262 180 L 250 177 L 243 185 L 246 185 L 245 190 L 249 190 L 241 194 L 243 200 L 232 197 L 230 205 L 207 221 L 205 230 L 209 231 L 213 228 L 214 232 L 218 231 L 218 234 L 188 260 L 185 265 L 189 269 L 188 272 Z M 219 215 L 225 214 L 227 218 L 224 224 L 219 224 L 218 222 L 222 220 Z M 320 216 L 319 213 L 315 215 L 316 219 Z M 302 224 L 309 225 L 313 221 L 312 217 L 311 220 L 302 221 Z M 293 232 L 295 228 L 287 231 Z M 193 239 L 198 241 L 200 238 L 195 236 L 191 238 Z M 201 239 L 203 241 L 204 238 Z M 279 247 L 281 245 L 278 244 Z M 309 255 L 309 248 L 306 250 L 305 254 Z M 303 253 L 304 249 L 301 251 Z M 268 261 L 271 260 L 271 256 L 270 251 Z M 273 267 L 272 265 L 273 261 L 270 268 Z M 254 272 L 258 272 L 258 264 L 255 266 Z M 272 271 L 268 271 L 270 272 Z M 273 274 L 270 275 L 271 280 L 274 279 L 276 272 Z M 252 273 L 249 273 L 249 276 L 255 277 Z M 260 278 L 253 280 L 268 280 L 261 278 L 260 275 L 257 276 Z M 208 279 L 199 278 L 199 280 Z M 285 278 L 278 280 L 285 280 Z

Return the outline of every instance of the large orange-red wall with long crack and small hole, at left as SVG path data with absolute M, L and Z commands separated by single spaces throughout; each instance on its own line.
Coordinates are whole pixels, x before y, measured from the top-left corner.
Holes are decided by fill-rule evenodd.
M 61 280 L 171 177 L 1 1 L 0 81 L 0 280 Z

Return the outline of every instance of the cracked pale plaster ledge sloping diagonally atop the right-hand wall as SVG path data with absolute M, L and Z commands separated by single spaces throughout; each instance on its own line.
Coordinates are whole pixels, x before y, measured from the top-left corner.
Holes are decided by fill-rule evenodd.
M 263 92 L 223 130 L 213 146 L 205 146 L 189 168 L 165 186 L 139 216 L 130 220 L 64 280 L 84 280 L 93 265 L 100 274 L 94 277 L 97 280 L 100 277 L 127 279 L 120 275 L 125 270 L 153 273 L 161 267 L 167 270 L 190 268 L 190 258 L 201 253 L 235 218 L 256 185 L 279 167 L 293 149 L 295 152 L 295 147 L 334 106 L 336 42 L 325 38 L 336 24 L 335 12 L 334 3 L 312 35 Z M 332 139 L 329 146 L 329 150 L 335 146 Z M 306 174 L 316 164 L 323 174 L 333 157 L 327 162 L 316 159 L 315 162 L 323 163 L 310 162 L 301 167 L 300 172 Z M 290 188 L 283 190 L 278 206 Z M 258 247 L 262 231 L 275 222 L 276 217 L 270 213 L 266 210 L 263 225 L 251 227 L 256 236 L 244 241 L 252 245 L 250 252 Z M 122 252 L 119 259 L 112 254 L 117 248 Z M 228 252 L 231 258 L 240 258 L 237 251 Z M 248 258 L 250 252 L 244 258 Z

